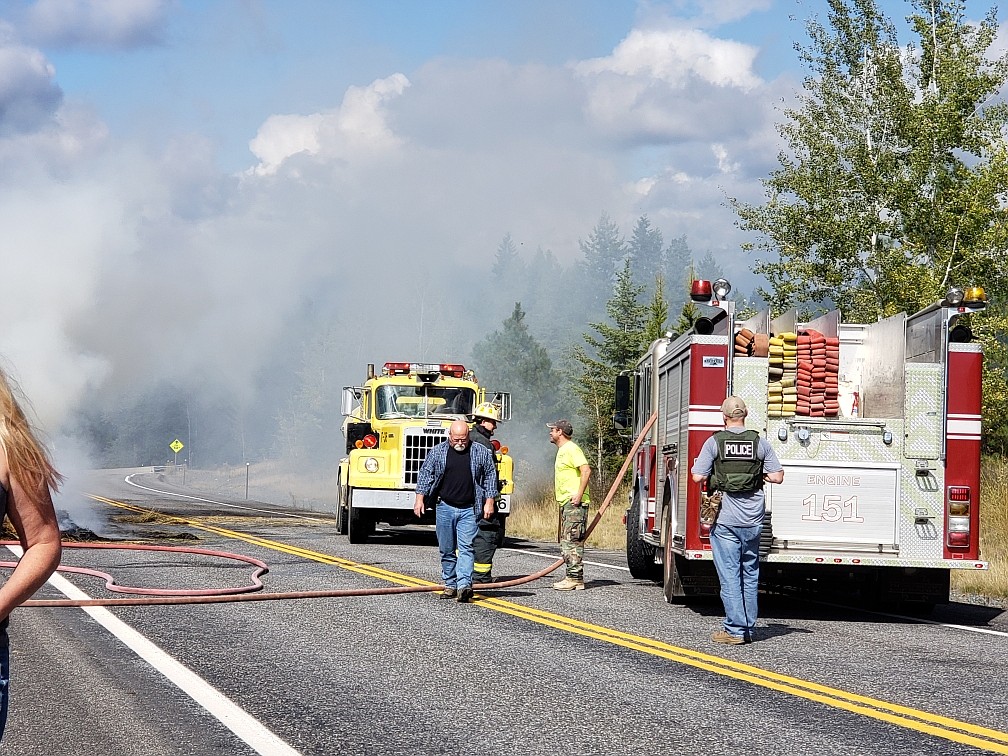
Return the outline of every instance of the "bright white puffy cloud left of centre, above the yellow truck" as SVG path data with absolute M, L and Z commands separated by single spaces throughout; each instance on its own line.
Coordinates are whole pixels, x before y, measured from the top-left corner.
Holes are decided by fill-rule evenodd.
M 252 172 L 275 173 L 284 160 L 297 154 L 335 160 L 394 149 L 401 140 L 387 123 L 385 106 L 407 87 L 405 76 L 393 74 L 368 87 L 350 87 L 336 110 L 270 116 L 249 142 L 249 149 L 259 158 Z

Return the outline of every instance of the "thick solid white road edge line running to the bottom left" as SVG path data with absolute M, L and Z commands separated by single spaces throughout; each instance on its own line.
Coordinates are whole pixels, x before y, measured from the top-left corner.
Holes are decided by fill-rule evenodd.
M 18 557 L 21 556 L 20 546 L 8 546 L 8 548 Z M 48 582 L 68 599 L 92 598 L 61 575 L 53 575 Z M 262 754 L 262 756 L 301 756 L 299 751 L 291 748 L 231 699 L 181 662 L 169 656 L 105 607 L 82 607 L 82 610 L 91 615 L 99 625 L 116 636 L 123 645 L 164 675 L 168 681 L 175 684 L 209 714 L 217 718 L 222 725 L 256 753 Z

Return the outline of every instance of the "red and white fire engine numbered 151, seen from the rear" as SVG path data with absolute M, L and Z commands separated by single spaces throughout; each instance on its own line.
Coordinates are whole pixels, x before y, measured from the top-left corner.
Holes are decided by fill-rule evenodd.
M 617 378 L 617 427 L 636 436 L 657 415 L 633 464 L 631 574 L 661 580 L 666 601 L 718 594 L 690 467 L 735 394 L 784 468 L 783 483 L 764 489 L 765 588 L 813 582 L 918 608 L 948 602 L 952 570 L 987 569 L 983 353 L 964 318 L 984 309 L 984 290 L 952 288 L 915 314 L 872 324 L 838 311 L 742 321 L 730 291 L 724 279 L 695 281 L 694 328 L 658 339 Z

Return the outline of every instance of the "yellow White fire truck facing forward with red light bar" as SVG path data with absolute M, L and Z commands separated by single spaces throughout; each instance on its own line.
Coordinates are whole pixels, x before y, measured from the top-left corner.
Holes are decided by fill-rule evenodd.
M 448 437 L 452 422 L 472 421 L 482 402 L 494 404 L 502 420 L 510 419 L 511 395 L 488 391 L 473 371 L 458 364 L 387 362 L 381 374 L 369 364 L 364 385 L 344 387 L 347 456 L 338 473 L 337 523 L 351 543 L 366 541 L 378 522 L 418 521 L 413 503 L 420 465 Z M 514 466 L 507 447 L 496 438 L 492 443 L 501 483 L 497 511 L 506 520 Z M 433 522 L 433 510 L 424 518 Z

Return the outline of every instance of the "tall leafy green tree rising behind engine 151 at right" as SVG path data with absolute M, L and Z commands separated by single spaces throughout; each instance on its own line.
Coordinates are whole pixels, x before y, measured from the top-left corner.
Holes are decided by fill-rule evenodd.
M 992 54 L 995 11 L 971 23 L 961 0 L 914 0 L 919 42 L 904 51 L 874 0 L 829 5 L 799 47 L 809 75 L 779 126 L 790 151 L 764 181 L 767 202 L 732 201 L 777 257 L 755 267 L 770 284 L 761 294 L 778 309 L 832 300 L 870 322 L 952 283 L 1006 292 L 1008 53 Z M 1005 328 L 1004 310 L 974 320 L 1001 364 Z M 988 420 L 1008 416 L 997 380 L 988 370 Z

